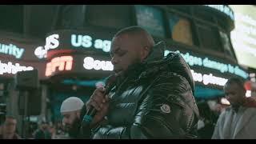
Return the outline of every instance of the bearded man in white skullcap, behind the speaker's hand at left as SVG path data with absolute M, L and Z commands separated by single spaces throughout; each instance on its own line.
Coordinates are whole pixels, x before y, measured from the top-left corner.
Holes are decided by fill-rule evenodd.
M 62 123 L 68 131 L 70 138 L 79 138 L 80 123 L 81 123 L 81 109 L 84 102 L 80 98 L 70 97 L 62 102 L 61 113 Z

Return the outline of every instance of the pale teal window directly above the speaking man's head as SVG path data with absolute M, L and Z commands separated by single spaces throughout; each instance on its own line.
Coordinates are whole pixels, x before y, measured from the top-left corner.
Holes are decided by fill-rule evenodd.
M 150 6 L 135 6 L 138 26 L 142 26 L 154 36 L 164 38 L 162 11 Z

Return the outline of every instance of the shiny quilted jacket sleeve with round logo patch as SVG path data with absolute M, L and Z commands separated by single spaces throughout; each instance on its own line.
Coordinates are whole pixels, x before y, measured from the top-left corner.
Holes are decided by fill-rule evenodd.
M 186 78 L 159 76 L 139 102 L 132 126 L 102 126 L 94 138 L 194 138 L 198 108 Z

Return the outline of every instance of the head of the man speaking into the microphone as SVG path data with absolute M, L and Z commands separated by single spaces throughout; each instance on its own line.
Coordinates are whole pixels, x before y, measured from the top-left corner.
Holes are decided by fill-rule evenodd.
M 130 66 L 143 62 L 154 47 L 154 39 L 139 26 L 130 26 L 118 31 L 110 48 L 114 72 L 126 74 Z

